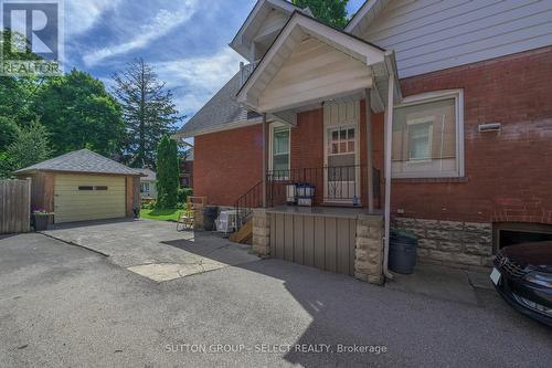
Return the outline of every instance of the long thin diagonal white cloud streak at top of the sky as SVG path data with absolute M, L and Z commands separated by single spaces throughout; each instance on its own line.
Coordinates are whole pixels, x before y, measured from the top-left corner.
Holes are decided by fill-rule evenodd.
M 83 57 L 86 66 L 93 66 L 100 61 L 119 54 L 125 54 L 134 50 L 147 46 L 150 42 L 169 33 L 176 27 L 185 23 L 197 11 L 195 0 L 181 0 L 182 4 L 177 11 L 161 9 L 157 15 L 149 22 L 142 22 L 131 40 L 113 46 L 103 48 Z

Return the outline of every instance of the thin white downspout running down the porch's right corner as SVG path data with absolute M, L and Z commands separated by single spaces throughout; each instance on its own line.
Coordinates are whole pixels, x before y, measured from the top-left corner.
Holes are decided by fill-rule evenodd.
M 394 105 L 395 75 L 389 71 L 388 82 L 388 108 L 385 111 L 385 210 L 384 223 L 385 235 L 383 246 L 383 274 L 385 277 L 393 280 L 393 275 L 389 272 L 389 239 L 391 235 L 391 149 L 393 135 L 393 105 Z

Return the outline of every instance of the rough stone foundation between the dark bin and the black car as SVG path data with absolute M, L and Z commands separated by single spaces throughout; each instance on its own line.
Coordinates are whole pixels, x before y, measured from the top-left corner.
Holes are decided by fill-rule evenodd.
M 392 229 L 411 231 L 420 236 L 417 255 L 422 262 L 469 269 L 492 264 L 492 225 L 394 218 Z

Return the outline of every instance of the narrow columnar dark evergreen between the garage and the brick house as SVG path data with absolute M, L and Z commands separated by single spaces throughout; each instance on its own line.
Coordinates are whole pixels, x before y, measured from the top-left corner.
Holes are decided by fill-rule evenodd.
M 179 180 L 177 141 L 164 135 L 157 148 L 157 208 L 177 207 Z

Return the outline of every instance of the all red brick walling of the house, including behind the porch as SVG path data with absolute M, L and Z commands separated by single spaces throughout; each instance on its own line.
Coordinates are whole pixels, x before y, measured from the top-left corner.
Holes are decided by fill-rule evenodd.
M 393 180 L 392 213 L 452 221 L 552 223 L 552 48 L 401 81 L 404 96 L 464 88 L 465 168 L 460 180 Z M 374 166 L 383 175 L 383 114 L 373 114 Z M 323 166 L 322 109 L 298 115 L 291 168 Z M 501 123 L 501 133 L 478 125 Z M 232 206 L 261 180 L 261 125 L 198 136 L 194 186 Z M 361 103 L 361 164 L 365 117 Z M 363 174 L 362 198 L 365 198 Z M 383 196 L 383 188 L 382 188 Z M 363 204 L 365 204 L 365 201 Z

